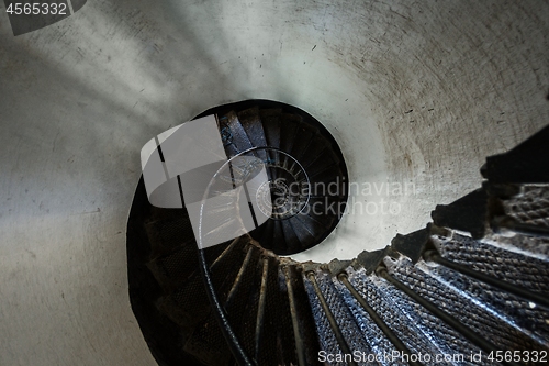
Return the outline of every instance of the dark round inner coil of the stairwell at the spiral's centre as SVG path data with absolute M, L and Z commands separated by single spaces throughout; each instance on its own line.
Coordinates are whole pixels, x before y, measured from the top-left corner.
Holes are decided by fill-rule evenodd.
M 337 226 L 346 210 L 348 173 L 338 143 L 326 127 L 296 107 L 271 100 L 245 100 L 211 108 L 227 157 L 249 148 L 267 167 L 261 198 L 270 219 L 250 232 L 277 255 L 314 247 Z

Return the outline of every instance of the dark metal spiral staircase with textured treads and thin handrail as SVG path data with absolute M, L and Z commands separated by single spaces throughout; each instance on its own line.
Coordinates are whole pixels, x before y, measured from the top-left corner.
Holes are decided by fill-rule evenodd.
M 329 133 L 306 113 L 266 101 L 204 114 L 212 112 L 227 157 L 259 157 L 266 193 L 281 203 L 249 234 L 203 249 L 226 315 L 220 325 L 186 210 L 149 206 L 142 179 L 127 225 L 130 296 L 159 365 L 549 359 L 549 168 L 539 160 L 549 153 L 549 127 L 489 157 L 482 188 L 437 206 L 427 228 L 321 264 L 284 256 L 322 242 L 344 214 L 347 169 Z M 305 180 L 335 182 L 336 193 L 280 185 Z

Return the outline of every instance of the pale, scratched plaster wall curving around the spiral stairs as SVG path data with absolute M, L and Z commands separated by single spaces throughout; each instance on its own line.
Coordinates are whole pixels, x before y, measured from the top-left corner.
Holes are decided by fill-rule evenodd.
M 351 180 L 414 182 L 317 260 L 422 228 L 549 121 L 547 1 L 89 0 L 19 37 L 0 11 L 0 365 L 155 364 L 126 287 L 139 149 L 212 106 L 299 106 Z

